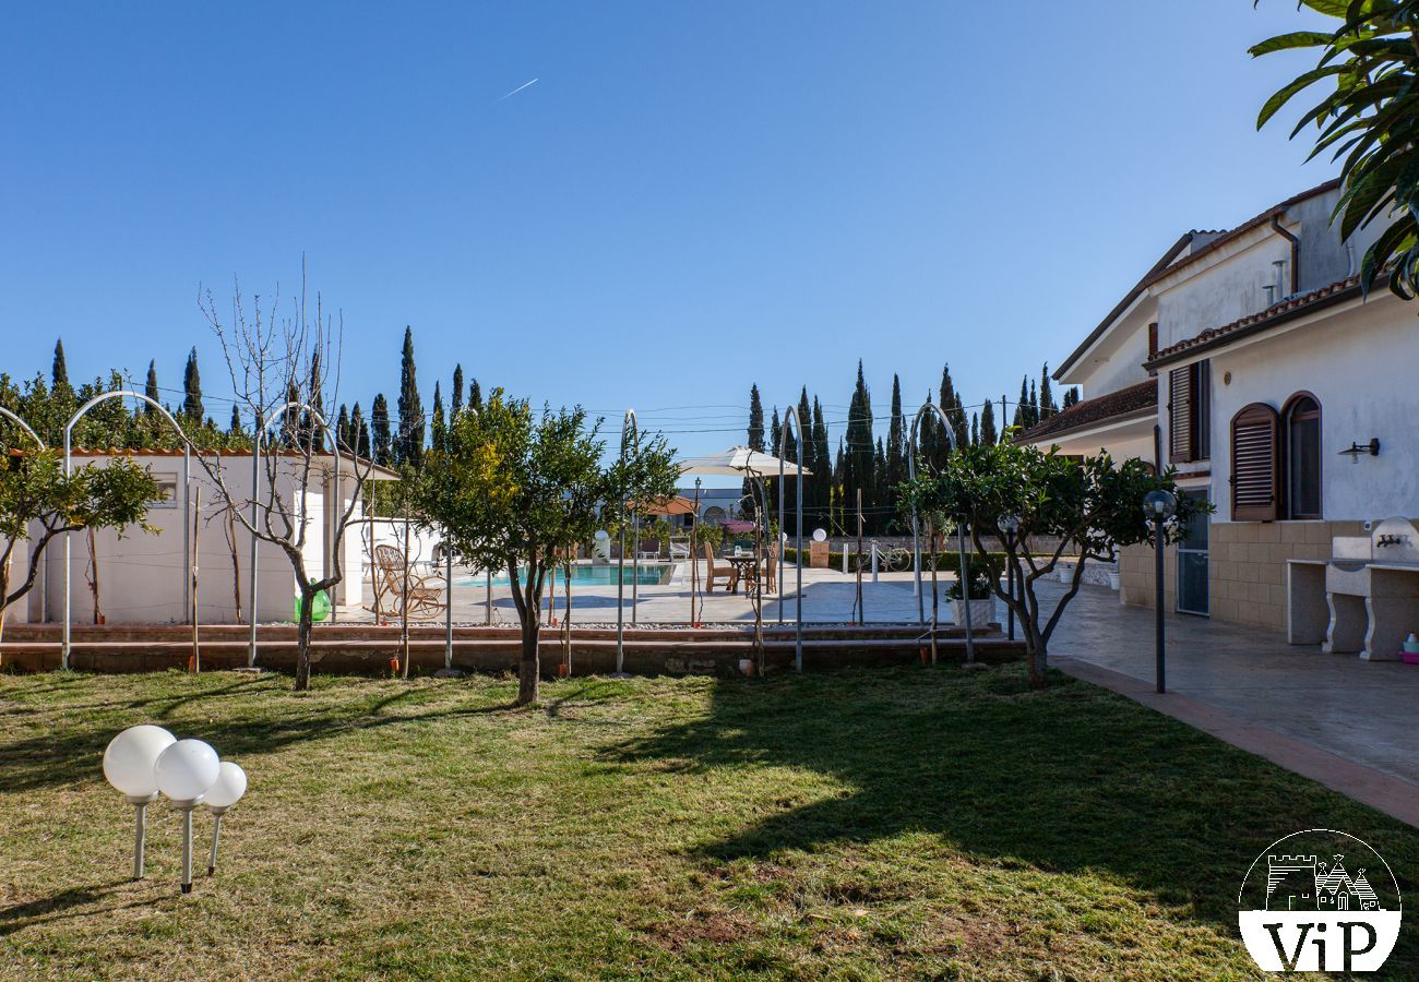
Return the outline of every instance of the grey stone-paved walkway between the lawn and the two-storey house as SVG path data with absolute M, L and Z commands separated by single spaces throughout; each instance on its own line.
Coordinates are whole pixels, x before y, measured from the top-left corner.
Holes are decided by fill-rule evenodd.
M 1053 597 L 1063 587 L 1046 589 Z M 1203 617 L 1172 614 L 1166 631 L 1162 697 L 1152 690 L 1154 612 L 1121 607 L 1112 590 L 1080 590 L 1050 654 L 1064 671 L 1419 824 L 1419 666 L 1324 654 Z M 1169 695 L 1183 698 L 1169 707 Z

